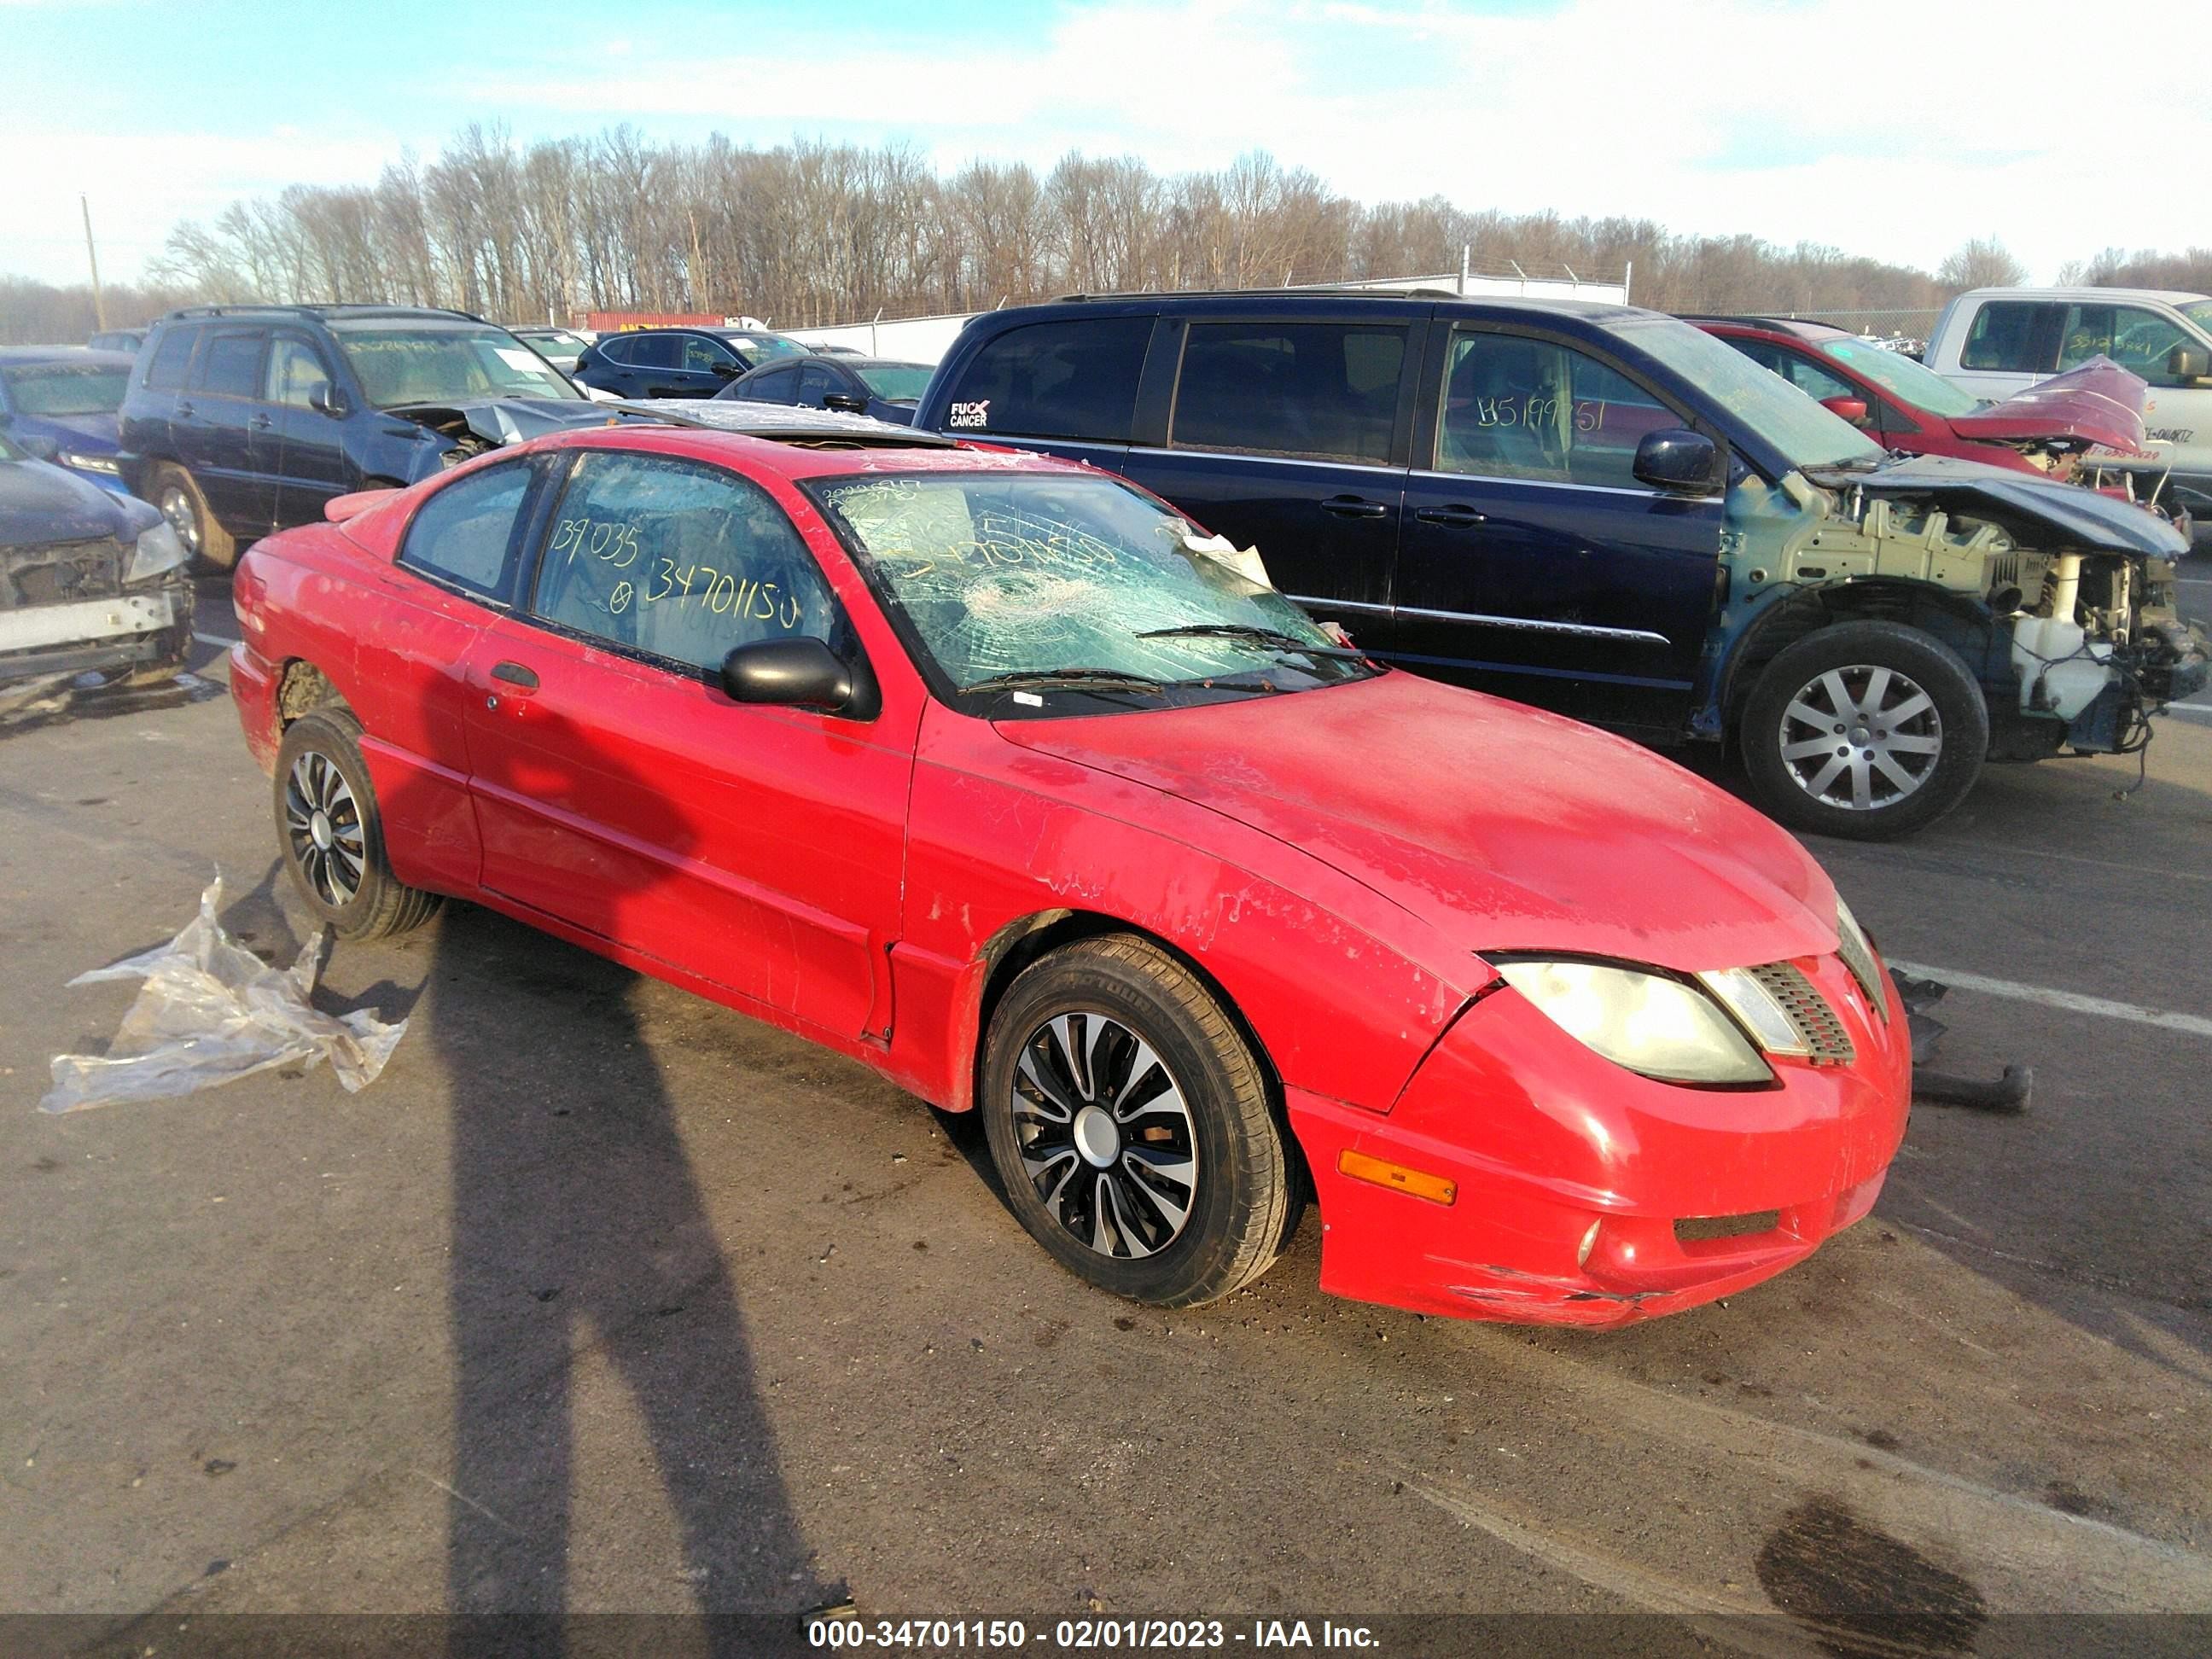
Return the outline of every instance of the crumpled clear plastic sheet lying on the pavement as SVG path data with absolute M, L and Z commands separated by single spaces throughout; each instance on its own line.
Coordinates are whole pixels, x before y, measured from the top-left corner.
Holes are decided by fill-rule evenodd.
M 316 931 L 290 969 L 237 945 L 217 920 L 223 878 L 199 896 L 199 914 L 166 945 L 71 984 L 144 980 L 137 1002 L 104 1055 L 55 1055 L 42 1113 L 168 1099 L 276 1066 L 330 1062 L 347 1093 L 367 1088 L 407 1035 L 407 1022 L 374 1013 L 323 1013 L 314 978 L 323 956 Z

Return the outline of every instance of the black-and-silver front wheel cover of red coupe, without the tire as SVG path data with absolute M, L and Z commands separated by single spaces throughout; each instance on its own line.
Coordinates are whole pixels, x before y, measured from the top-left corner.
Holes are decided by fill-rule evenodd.
M 1013 1137 L 1051 1217 L 1119 1261 L 1181 1237 L 1199 1192 L 1199 1139 L 1181 1084 L 1104 1013 L 1060 1013 L 1013 1068 Z

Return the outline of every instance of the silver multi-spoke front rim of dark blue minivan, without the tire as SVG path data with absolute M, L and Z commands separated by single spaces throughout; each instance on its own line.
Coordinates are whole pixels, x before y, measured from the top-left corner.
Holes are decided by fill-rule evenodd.
M 1936 699 L 1909 675 L 1871 664 L 1829 668 L 1801 686 L 1778 737 L 1790 779 L 1845 812 L 1898 805 L 1942 761 Z

